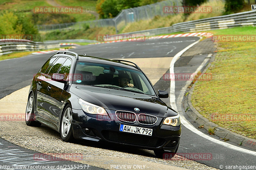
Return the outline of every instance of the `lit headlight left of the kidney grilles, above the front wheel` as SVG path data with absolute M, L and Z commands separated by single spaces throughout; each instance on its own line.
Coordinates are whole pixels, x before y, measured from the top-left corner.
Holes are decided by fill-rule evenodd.
M 108 115 L 107 111 L 103 107 L 84 101 L 81 98 L 78 100 L 78 103 L 86 113 L 105 116 Z

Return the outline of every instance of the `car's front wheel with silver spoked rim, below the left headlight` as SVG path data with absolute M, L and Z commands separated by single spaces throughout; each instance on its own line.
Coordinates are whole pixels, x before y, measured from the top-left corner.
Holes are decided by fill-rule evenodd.
M 72 130 L 72 109 L 70 105 L 65 107 L 61 117 L 60 136 L 65 142 L 72 142 L 74 139 Z

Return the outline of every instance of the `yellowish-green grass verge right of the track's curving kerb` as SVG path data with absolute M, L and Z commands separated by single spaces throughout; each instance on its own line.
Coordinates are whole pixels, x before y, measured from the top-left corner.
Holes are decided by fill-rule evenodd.
M 253 34 L 255 31 L 256 27 L 247 26 L 209 32 L 225 35 Z M 198 81 L 192 94 L 193 106 L 204 117 L 221 127 L 254 139 L 255 48 L 256 42 L 219 42 L 216 58 L 206 71 L 212 73 L 212 80 Z M 244 114 L 249 117 L 242 117 Z M 217 115 L 221 119 L 212 119 Z

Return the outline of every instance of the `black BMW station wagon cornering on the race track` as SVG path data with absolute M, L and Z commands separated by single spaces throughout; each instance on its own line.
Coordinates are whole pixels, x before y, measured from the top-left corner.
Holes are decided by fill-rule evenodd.
M 26 124 L 41 123 L 63 141 L 91 140 L 177 152 L 180 116 L 132 62 L 60 51 L 44 63 L 29 89 Z

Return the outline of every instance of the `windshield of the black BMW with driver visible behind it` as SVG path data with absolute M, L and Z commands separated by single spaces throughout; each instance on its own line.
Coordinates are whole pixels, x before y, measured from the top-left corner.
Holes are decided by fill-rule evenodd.
M 145 75 L 138 70 L 115 65 L 77 62 L 73 84 L 91 85 L 156 96 Z

